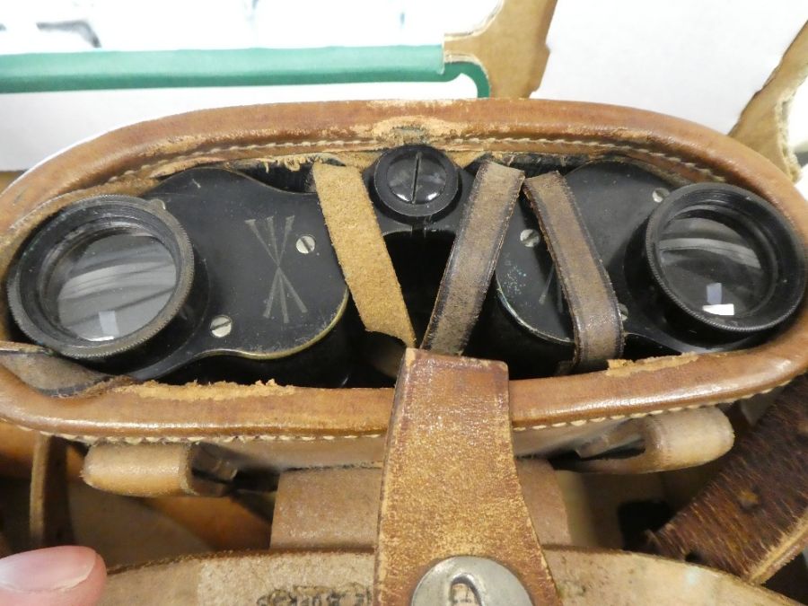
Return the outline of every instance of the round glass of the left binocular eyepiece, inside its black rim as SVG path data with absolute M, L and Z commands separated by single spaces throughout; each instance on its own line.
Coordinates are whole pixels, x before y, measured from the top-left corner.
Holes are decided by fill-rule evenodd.
M 79 242 L 57 259 L 45 293 L 63 329 L 110 341 L 153 321 L 176 285 L 171 252 L 152 234 L 130 230 Z

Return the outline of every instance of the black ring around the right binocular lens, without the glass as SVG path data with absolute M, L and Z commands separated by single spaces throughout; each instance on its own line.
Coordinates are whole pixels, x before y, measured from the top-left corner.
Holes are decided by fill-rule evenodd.
M 742 226 L 764 253 L 770 277 L 766 294 L 747 312 L 715 315 L 688 303 L 669 279 L 660 243 L 665 229 L 680 218 L 707 218 L 725 226 Z M 663 293 L 682 312 L 713 329 L 750 333 L 777 326 L 795 312 L 806 282 L 805 251 L 786 218 L 766 200 L 745 189 L 721 183 L 697 183 L 677 189 L 654 209 L 646 225 L 646 257 Z

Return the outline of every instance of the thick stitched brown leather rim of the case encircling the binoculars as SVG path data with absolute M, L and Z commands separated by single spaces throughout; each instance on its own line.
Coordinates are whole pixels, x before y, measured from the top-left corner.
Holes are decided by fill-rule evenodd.
M 673 178 L 720 180 L 768 199 L 808 241 L 808 208 L 786 175 L 705 127 L 626 108 L 558 101 L 336 102 L 203 110 L 126 127 L 70 148 L 0 196 L 0 278 L 45 216 L 94 194 L 136 195 L 198 164 L 337 156 L 364 166 L 426 143 L 458 162 L 479 154 L 628 158 Z M 462 163 L 462 162 L 461 162 Z M 0 297 L 4 301 L 5 297 Z M 8 338 L 5 314 L 0 338 Z M 6 350 L 14 350 L 6 343 Z M 0 418 L 88 444 L 215 443 L 277 467 L 381 461 L 391 389 L 102 382 L 55 398 L 0 369 Z M 509 383 L 517 454 L 580 444 L 627 419 L 748 398 L 808 366 L 808 307 L 760 347 L 622 362 L 601 372 Z M 13 372 L 8 370 L 13 369 Z

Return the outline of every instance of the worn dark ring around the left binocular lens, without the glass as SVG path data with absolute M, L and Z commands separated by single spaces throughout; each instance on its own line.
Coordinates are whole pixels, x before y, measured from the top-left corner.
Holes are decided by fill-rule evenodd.
M 48 302 L 49 277 L 60 259 L 83 242 L 106 233 L 141 232 L 171 255 L 176 281 L 166 303 L 151 320 L 128 334 L 104 341 L 81 338 L 57 321 Z M 194 280 L 194 253 L 179 222 L 161 206 L 130 196 L 86 198 L 44 224 L 24 246 L 11 269 L 8 300 L 14 320 L 36 343 L 78 359 L 127 352 L 153 338 L 180 312 Z

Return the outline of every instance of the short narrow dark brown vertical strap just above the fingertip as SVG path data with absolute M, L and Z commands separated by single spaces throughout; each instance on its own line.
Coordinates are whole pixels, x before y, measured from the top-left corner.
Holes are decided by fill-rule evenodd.
M 31 549 L 73 542 L 67 496 L 67 442 L 38 435 L 31 465 L 29 531 Z

